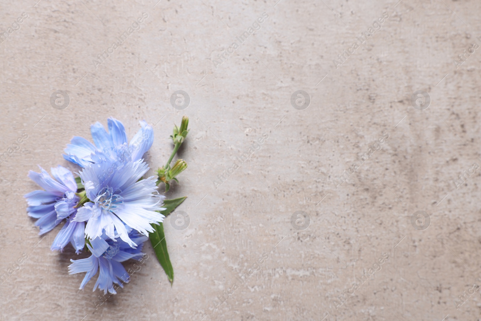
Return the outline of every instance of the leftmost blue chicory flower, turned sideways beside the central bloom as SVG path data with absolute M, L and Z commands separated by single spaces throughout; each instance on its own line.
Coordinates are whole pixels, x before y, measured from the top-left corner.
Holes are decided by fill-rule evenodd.
M 54 180 L 47 171 L 41 167 L 40 170 L 40 173 L 29 171 L 28 177 L 45 191 L 37 190 L 25 194 L 29 205 L 27 213 L 32 218 L 38 218 L 35 225 L 40 228 L 39 234 L 51 231 L 66 218 L 65 225 L 55 237 L 51 250 L 63 250 L 70 242 L 78 253 L 85 245 L 85 223 L 73 221 L 77 212 L 75 205 L 80 200 L 75 194 L 77 183 L 74 175 L 67 168 L 58 166 L 51 168 Z

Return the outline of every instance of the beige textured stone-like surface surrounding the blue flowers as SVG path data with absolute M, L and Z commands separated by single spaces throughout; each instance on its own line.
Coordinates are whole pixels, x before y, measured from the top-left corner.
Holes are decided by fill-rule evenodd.
M 0 30 L 28 14 L 0 45 L 0 154 L 28 134 L 0 165 L 1 273 L 22 253 L 28 259 L 0 285 L 0 320 L 480 318 L 479 290 L 454 304 L 480 283 L 480 170 L 458 189 L 453 182 L 481 164 L 481 49 L 453 63 L 481 44 L 479 1 L 156 2 L 1 1 Z M 215 68 L 264 12 L 262 28 Z M 383 12 L 382 29 L 336 69 L 332 60 Z M 141 29 L 95 68 L 142 13 Z M 69 93 L 68 108 L 52 108 L 55 90 Z M 190 95 L 183 111 L 170 104 L 176 90 Z M 291 106 L 295 90 L 310 95 L 307 109 Z M 429 93 L 428 109 L 411 105 L 416 90 Z M 86 125 L 109 116 L 129 138 L 140 119 L 157 124 L 147 159 L 158 167 L 182 115 L 189 168 L 167 196 L 189 196 L 179 209 L 191 222 L 184 231 L 165 224 L 174 284 L 147 244 L 151 258 L 96 309 L 95 279 L 79 291 L 83 274 L 67 273 L 75 253 L 51 252 L 56 231 L 42 239 L 27 217 L 22 195 L 37 188 L 27 172 L 77 170 L 63 148 L 74 135 L 91 139 Z M 216 176 L 265 132 L 261 150 L 215 189 Z M 382 150 L 336 189 L 333 179 L 384 133 Z M 291 225 L 298 210 L 311 218 L 304 231 Z M 411 225 L 418 210 L 430 215 L 427 230 Z M 263 253 L 262 269 L 215 310 Z M 336 309 L 382 253 L 390 255 L 382 269 Z

